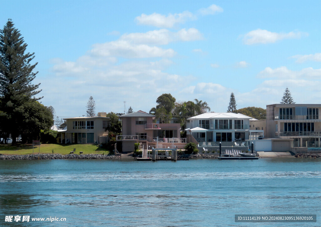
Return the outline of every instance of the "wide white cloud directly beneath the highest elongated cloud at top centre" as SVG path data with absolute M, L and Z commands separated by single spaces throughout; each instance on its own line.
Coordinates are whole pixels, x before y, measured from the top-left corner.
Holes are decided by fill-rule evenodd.
M 188 30 L 181 29 L 178 32 L 171 32 L 167 29 L 148 31 L 145 33 L 124 34 L 120 40 L 133 44 L 166 45 L 175 41 L 194 41 L 203 39 L 202 34 L 195 28 Z

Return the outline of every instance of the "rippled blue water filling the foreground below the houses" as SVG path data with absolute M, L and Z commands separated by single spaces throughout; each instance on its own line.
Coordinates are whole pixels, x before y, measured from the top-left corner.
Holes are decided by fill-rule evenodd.
M 321 226 L 319 160 L 0 160 L 0 226 Z M 234 214 L 317 214 L 317 223 Z

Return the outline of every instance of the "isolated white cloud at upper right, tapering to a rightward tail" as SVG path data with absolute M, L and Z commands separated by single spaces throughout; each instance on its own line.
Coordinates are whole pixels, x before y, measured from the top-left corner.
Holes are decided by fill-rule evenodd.
M 300 39 L 302 35 L 306 35 L 301 32 L 289 32 L 289 33 L 276 33 L 267 30 L 257 29 L 248 32 L 244 35 L 243 42 L 247 45 L 253 45 L 257 43 L 267 44 L 275 43 L 282 39 Z

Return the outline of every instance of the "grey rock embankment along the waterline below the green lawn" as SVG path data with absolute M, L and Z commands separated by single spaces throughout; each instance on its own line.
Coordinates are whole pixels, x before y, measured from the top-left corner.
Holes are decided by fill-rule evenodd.
M 32 160 L 32 159 L 121 159 L 120 156 L 107 154 L 25 154 L 0 155 L 0 160 Z

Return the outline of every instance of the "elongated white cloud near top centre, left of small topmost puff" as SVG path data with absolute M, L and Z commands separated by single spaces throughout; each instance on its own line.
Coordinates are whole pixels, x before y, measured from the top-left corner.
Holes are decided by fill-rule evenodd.
M 135 18 L 139 24 L 151 25 L 159 28 L 172 28 L 176 24 L 185 23 L 188 20 L 195 19 L 196 17 L 194 14 L 188 11 L 175 14 L 169 13 L 167 16 L 159 13 L 152 13 L 150 15 L 142 13 L 142 15 Z

